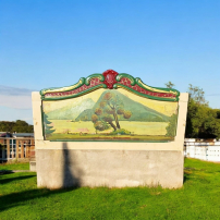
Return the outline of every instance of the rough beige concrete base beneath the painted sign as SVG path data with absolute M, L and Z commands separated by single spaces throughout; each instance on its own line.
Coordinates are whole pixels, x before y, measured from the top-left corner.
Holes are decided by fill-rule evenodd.
M 183 185 L 180 150 L 37 149 L 36 161 L 39 187 Z

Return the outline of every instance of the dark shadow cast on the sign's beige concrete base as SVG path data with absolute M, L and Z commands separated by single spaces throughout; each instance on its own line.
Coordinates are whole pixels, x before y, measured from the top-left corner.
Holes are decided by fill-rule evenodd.
M 81 176 L 83 171 L 78 168 L 76 162 L 76 155 L 74 150 L 68 148 L 68 144 L 62 144 L 63 150 L 63 187 L 80 187 Z

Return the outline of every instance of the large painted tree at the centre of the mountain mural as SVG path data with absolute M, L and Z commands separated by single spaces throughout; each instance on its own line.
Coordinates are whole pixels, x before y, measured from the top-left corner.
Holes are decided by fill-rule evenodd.
M 96 108 L 95 114 L 91 115 L 91 121 L 97 130 L 103 131 L 111 126 L 117 131 L 121 129 L 119 115 L 122 115 L 124 119 L 130 119 L 132 112 L 124 110 L 123 101 L 118 95 L 107 93 L 102 97 L 99 107 Z

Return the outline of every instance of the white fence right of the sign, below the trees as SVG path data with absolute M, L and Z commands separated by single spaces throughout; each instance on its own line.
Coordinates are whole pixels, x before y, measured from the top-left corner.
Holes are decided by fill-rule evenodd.
M 190 158 L 220 162 L 220 140 L 185 138 L 184 156 Z

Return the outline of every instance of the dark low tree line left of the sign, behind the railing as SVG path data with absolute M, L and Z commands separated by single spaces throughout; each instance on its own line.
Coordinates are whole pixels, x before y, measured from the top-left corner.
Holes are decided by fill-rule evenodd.
M 34 133 L 34 126 L 23 120 L 15 122 L 0 121 L 0 132 Z

